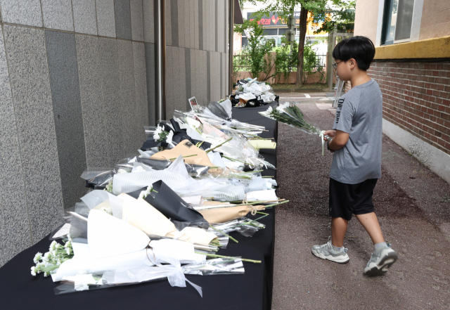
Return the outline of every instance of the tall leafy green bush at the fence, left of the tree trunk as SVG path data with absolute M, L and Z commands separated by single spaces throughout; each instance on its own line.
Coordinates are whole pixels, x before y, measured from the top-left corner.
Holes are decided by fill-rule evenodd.
M 264 73 L 266 76 L 259 80 L 267 79 L 271 70 L 269 52 L 274 48 L 275 41 L 264 39 L 264 28 L 258 25 L 257 20 L 245 20 L 242 25 L 235 25 L 234 32 L 244 31 L 248 34 L 248 45 L 244 47 L 243 54 L 248 56 L 244 61 L 249 67 L 250 75 L 255 78 Z

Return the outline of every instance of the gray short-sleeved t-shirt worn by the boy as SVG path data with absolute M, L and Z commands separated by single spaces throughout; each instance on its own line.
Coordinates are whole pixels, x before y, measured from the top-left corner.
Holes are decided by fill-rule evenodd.
M 349 141 L 335 151 L 330 178 L 347 184 L 379 179 L 383 98 L 377 82 L 354 86 L 339 99 L 333 129 L 347 132 Z

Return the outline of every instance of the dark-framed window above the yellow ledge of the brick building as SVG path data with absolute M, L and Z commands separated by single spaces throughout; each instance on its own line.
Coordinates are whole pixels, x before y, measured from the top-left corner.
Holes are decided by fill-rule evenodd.
M 411 39 L 414 0 L 385 0 L 381 44 L 393 44 Z

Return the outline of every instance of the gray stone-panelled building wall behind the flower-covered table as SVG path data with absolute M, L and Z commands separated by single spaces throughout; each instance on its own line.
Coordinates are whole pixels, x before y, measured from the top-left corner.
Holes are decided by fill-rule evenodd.
M 0 266 L 155 124 L 154 0 L 0 0 Z M 167 119 L 226 96 L 228 0 L 166 0 Z

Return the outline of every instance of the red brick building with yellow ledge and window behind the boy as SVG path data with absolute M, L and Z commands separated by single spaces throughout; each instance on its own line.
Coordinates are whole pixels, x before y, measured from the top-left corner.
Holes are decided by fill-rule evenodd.
M 357 0 L 354 35 L 376 46 L 383 132 L 450 183 L 450 1 Z

